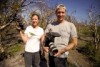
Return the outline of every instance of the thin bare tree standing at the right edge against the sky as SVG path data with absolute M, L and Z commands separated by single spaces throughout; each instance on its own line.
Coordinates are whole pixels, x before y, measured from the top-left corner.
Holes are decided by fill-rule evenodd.
M 94 44 L 95 44 L 95 48 L 98 49 L 98 45 L 100 42 L 100 34 L 98 33 L 98 27 L 99 22 L 100 22 L 100 15 L 96 14 L 96 10 L 94 10 L 95 7 L 91 6 L 91 9 L 89 11 L 89 18 L 90 18 L 90 28 L 92 31 L 92 37 L 94 38 Z

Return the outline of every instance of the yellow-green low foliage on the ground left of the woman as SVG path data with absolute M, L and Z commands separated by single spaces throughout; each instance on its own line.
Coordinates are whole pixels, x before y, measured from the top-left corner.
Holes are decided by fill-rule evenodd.
M 6 47 L 5 51 L 0 53 L 0 61 L 15 56 L 18 52 L 23 50 L 23 43 L 16 43 L 12 46 Z

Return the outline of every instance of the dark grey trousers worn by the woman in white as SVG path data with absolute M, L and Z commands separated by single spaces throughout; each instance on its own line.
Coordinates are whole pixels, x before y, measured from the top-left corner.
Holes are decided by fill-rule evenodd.
M 40 67 L 40 54 L 39 52 L 30 53 L 25 52 L 25 67 Z

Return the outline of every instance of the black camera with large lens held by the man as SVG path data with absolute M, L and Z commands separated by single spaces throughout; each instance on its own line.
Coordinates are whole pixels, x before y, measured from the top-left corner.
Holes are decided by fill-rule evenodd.
M 58 49 L 54 45 L 54 38 L 60 37 L 59 33 L 56 32 L 49 32 L 46 33 L 46 40 L 45 40 L 45 46 L 50 48 L 50 52 L 54 55 L 58 52 Z

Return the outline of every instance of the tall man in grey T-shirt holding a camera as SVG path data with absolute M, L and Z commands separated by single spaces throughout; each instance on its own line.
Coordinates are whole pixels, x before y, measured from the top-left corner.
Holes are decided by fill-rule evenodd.
M 55 10 L 57 21 L 47 25 L 45 33 L 56 32 L 60 37 L 54 38 L 54 46 L 58 52 L 51 54 L 48 47 L 44 47 L 49 52 L 49 67 L 68 67 L 67 57 L 69 50 L 77 45 L 77 31 L 73 23 L 65 20 L 66 7 L 62 4 L 58 5 Z

